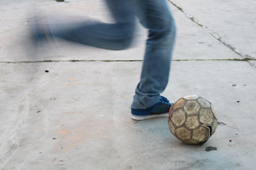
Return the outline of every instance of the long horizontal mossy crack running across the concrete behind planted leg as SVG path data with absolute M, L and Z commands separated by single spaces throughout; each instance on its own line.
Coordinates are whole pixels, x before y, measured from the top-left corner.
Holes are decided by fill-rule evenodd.
M 244 59 L 177 59 L 172 61 L 246 61 L 256 60 L 251 58 Z M 0 64 L 26 64 L 38 62 L 143 62 L 143 60 L 35 60 L 35 61 L 0 61 Z

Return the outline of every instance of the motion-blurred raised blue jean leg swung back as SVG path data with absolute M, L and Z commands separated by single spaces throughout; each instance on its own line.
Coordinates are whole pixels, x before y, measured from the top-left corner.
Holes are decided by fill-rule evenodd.
M 106 0 L 115 23 L 86 22 L 84 24 L 67 25 L 63 29 L 51 25 L 52 36 L 83 45 L 105 48 L 108 50 L 123 50 L 131 45 L 134 32 L 134 8 L 132 1 Z M 65 26 L 64 26 L 65 28 Z

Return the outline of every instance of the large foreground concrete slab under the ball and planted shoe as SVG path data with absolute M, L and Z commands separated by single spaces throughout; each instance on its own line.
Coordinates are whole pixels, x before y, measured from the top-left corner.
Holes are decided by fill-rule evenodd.
M 207 143 L 191 146 L 172 136 L 166 118 L 129 117 L 141 64 L 0 64 L 0 168 L 254 169 L 255 68 L 240 61 L 173 62 L 163 95 L 205 97 L 219 121 Z M 205 152 L 208 146 L 217 150 Z

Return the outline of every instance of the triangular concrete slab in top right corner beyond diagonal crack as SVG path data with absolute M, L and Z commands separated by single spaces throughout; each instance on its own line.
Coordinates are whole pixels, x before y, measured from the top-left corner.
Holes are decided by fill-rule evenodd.
M 243 57 L 256 58 L 255 1 L 170 1 L 228 45 L 233 46 L 234 50 L 241 52 Z

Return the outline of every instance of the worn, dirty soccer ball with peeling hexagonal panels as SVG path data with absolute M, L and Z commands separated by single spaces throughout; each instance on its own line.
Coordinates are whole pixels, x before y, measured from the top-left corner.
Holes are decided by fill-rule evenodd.
M 170 108 L 169 115 L 170 131 L 184 143 L 205 143 L 216 131 L 217 118 L 212 104 L 200 96 L 180 98 Z

